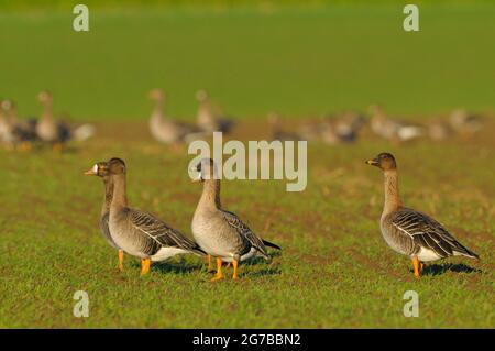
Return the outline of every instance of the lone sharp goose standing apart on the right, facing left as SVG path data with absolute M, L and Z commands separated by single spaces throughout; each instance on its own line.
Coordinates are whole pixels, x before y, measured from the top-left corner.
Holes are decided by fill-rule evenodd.
M 366 163 L 381 168 L 385 176 L 385 206 L 380 220 L 382 235 L 394 251 L 413 260 L 417 278 L 424 262 L 448 256 L 479 259 L 435 219 L 404 207 L 398 190 L 397 164 L 392 154 L 381 153 Z

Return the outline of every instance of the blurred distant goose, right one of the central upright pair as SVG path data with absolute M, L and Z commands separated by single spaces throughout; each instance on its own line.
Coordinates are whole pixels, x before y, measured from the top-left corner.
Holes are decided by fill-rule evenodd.
M 221 109 L 210 100 L 205 90 L 198 90 L 196 99 L 199 102 L 197 124 L 204 132 L 229 133 L 232 130 L 234 125 L 232 119 L 223 116 Z

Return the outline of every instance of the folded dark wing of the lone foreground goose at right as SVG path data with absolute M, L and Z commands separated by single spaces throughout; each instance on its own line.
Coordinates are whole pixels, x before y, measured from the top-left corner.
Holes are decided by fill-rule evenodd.
M 442 224 L 422 212 L 410 209 L 397 211 L 392 218 L 392 224 L 409 235 L 415 244 L 433 251 L 440 257 L 453 254 L 477 257 L 452 237 Z

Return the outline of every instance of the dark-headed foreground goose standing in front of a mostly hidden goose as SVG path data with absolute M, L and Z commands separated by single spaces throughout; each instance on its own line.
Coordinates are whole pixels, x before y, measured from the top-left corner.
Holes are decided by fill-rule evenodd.
M 127 167 L 120 158 L 108 162 L 113 183 L 110 205 L 110 235 L 118 248 L 141 259 L 141 274 L 147 274 L 152 262 L 164 261 L 176 254 L 205 255 L 198 244 L 173 229 L 157 217 L 130 208 L 127 197 Z

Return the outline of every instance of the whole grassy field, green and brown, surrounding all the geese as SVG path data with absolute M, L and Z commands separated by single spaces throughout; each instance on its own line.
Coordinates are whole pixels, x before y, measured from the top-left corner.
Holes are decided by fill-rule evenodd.
M 35 94 L 48 88 L 56 111 L 98 128 L 62 154 L 0 150 L 0 327 L 495 327 L 494 6 L 425 4 L 415 34 L 394 3 L 158 9 L 96 9 L 89 33 L 72 31 L 70 10 L 0 13 L 0 96 L 38 114 Z M 131 205 L 190 235 L 201 188 L 187 176 L 186 150 L 148 135 L 153 87 L 183 119 L 207 88 L 239 120 L 240 140 L 268 136 L 271 110 L 302 119 L 378 101 L 421 120 L 459 106 L 488 118 L 471 140 L 391 145 L 365 133 L 353 145 L 310 144 L 302 193 L 224 182 L 226 208 L 283 253 L 243 264 L 238 282 L 210 283 L 195 256 L 141 277 L 129 256 L 116 272 L 98 230 L 102 184 L 82 172 L 124 158 Z M 364 161 L 382 151 L 397 156 L 406 204 L 481 262 L 452 259 L 414 278 L 380 233 L 382 176 Z M 409 289 L 419 318 L 403 315 Z M 76 290 L 89 294 L 89 318 L 73 316 Z

